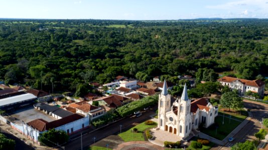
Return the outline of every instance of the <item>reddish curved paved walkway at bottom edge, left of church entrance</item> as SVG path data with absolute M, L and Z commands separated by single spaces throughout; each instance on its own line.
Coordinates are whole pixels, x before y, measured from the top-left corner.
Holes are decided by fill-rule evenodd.
M 142 149 L 142 150 L 164 150 L 164 147 L 151 143 L 149 141 L 128 141 L 119 144 L 114 150 L 129 150 L 129 149 Z

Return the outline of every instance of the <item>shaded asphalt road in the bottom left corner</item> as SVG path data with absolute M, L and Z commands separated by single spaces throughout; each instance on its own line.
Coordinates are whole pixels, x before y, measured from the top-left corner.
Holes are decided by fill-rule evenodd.
M 8 138 L 11 138 L 11 139 L 15 140 L 15 142 L 16 142 L 15 150 L 34 149 L 32 146 L 26 144 L 20 138 L 14 136 L 13 134 L 9 133 L 6 130 L 1 129 L 1 133 L 5 134 Z

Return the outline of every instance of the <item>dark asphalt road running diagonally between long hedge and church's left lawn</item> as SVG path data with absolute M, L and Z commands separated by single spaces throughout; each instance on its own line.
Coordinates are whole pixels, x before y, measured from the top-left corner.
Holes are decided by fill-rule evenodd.
M 83 149 L 88 149 L 89 145 L 91 145 L 94 140 L 93 137 L 95 138 L 95 141 L 98 141 L 102 138 L 105 138 L 109 135 L 119 133 L 120 132 L 120 125 L 122 125 L 122 131 L 127 130 L 134 125 L 134 123 L 141 123 L 145 120 L 150 119 L 150 115 L 154 114 L 155 111 L 152 109 L 148 109 L 147 111 L 142 112 L 143 115 L 140 117 L 136 117 L 135 115 L 127 116 L 119 121 L 116 121 L 114 123 L 111 123 L 105 127 L 102 127 L 98 130 L 95 130 L 89 134 L 84 134 L 82 136 L 82 145 Z M 81 136 L 80 136 L 81 137 Z M 67 145 L 64 146 L 65 149 L 81 149 L 81 138 L 78 137 L 72 141 L 69 141 Z

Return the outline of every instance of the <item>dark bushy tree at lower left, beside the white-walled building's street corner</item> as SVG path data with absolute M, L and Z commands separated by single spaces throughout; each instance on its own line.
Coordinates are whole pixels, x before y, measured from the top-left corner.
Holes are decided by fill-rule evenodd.
M 64 130 L 49 129 L 39 134 L 38 141 L 47 146 L 55 146 L 63 144 L 69 140 L 69 135 Z

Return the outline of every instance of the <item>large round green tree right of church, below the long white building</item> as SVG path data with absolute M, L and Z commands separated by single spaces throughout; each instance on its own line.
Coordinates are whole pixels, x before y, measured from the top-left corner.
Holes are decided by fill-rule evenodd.
M 221 95 L 220 104 L 223 107 L 234 108 L 235 110 L 243 106 L 242 99 L 234 91 L 225 92 Z

